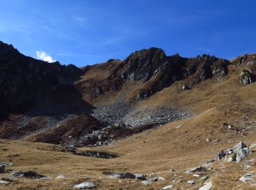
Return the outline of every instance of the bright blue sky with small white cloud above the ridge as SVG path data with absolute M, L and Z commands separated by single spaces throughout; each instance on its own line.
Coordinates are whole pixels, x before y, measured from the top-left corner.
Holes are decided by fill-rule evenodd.
M 256 52 L 254 0 L 1 0 L 0 40 L 86 66 L 160 47 L 167 55 Z

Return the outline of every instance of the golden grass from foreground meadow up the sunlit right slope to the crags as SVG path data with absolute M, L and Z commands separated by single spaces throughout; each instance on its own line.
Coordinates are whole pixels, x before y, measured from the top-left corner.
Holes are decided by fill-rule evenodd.
M 63 180 L 28 180 L 20 179 L 17 183 L 8 186 L 1 185 L 0 188 L 10 189 L 70 189 L 76 183 L 91 180 L 97 183 L 100 189 L 151 189 L 169 185 L 172 181 L 179 180 L 183 175 L 183 182 L 173 183 L 176 187 L 185 189 L 198 188 L 203 183 L 184 173 L 189 167 L 203 164 L 221 149 L 228 148 L 244 140 L 246 144 L 255 142 L 255 129 L 248 131 L 246 136 L 235 134 L 229 129 L 222 127 L 222 122 L 232 123 L 238 129 L 241 126 L 255 125 L 256 104 L 253 101 L 256 95 L 255 83 L 241 86 L 238 76 L 242 69 L 247 66 L 229 66 L 229 75 L 222 83 L 214 80 L 206 80 L 191 91 L 181 91 L 181 86 L 186 81 L 179 81 L 165 88 L 150 99 L 139 102 L 138 106 L 145 104 L 181 106 L 193 110 L 199 115 L 186 121 L 167 123 L 157 129 L 151 129 L 140 134 L 135 134 L 116 145 L 100 147 L 103 151 L 121 153 L 123 156 L 116 159 L 93 159 L 83 156 L 74 156 L 71 153 L 63 153 L 59 146 L 43 143 L 31 143 L 20 141 L 1 140 L 0 160 L 12 161 L 12 170 L 35 170 L 49 177 L 59 174 L 67 175 Z M 91 73 L 91 76 L 94 76 Z M 132 90 L 129 94 L 138 91 L 141 86 L 137 83 L 127 83 Z M 124 86 L 119 92 L 126 91 Z M 117 97 L 116 96 L 113 97 Z M 114 100 L 106 96 L 99 97 L 100 103 Z M 182 125 L 178 129 L 176 126 Z M 211 141 L 206 142 L 206 138 Z M 219 140 L 217 144 L 214 140 Z M 255 157 L 255 153 L 252 154 Z M 214 163 L 212 170 L 207 174 L 214 182 L 214 189 L 249 189 L 238 180 L 244 175 L 245 170 L 241 164 L 225 164 L 225 172 L 219 167 L 220 162 Z M 242 162 L 243 163 L 243 162 Z M 252 165 L 255 170 L 255 163 Z M 176 172 L 170 172 L 175 168 Z M 155 182 L 152 186 L 141 186 L 139 180 L 110 179 L 102 175 L 104 171 L 115 172 L 143 172 L 145 174 L 154 172 L 157 176 L 165 177 L 163 182 Z M 224 175 L 225 173 L 225 175 Z M 8 175 L 8 174 L 4 174 Z M 0 175 L 1 177 L 2 175 Z M 187 180 L 196 180 L 195 186 L 189 186 Z M 54 188 L 53 188 L 54 187 Z

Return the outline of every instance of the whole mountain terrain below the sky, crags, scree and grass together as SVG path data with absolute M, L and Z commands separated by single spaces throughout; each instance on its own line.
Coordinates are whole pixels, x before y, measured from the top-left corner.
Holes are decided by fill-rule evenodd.
M 255 82 L 256 54 L 78 68 L 0 42 L 0 189 L 255 189 Z

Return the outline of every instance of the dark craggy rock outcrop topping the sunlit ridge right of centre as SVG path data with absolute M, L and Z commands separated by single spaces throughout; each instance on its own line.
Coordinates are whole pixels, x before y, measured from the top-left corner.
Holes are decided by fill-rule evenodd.
M 157 91 L 166 88 L 177 80 L 192 77 L 190 86 L 214 78 L 218 82 L 224 80 L 227 75 L 225 59 L 203 54 L 197 58 L 182 58 L 178 54 L 166 56 L 159 48 L 151 47 L 148 50 L 140 50 L 128 56 L 122 66 L 123 80 L 142 80 L 142 83 L 150 83 L 150 88 L 141 91 L 135 100 L 143 100 Z

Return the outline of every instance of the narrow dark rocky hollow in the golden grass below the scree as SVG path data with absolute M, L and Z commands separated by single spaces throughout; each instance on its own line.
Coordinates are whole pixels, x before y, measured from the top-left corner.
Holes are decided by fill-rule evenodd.
M 75 154 L 79 156 L 89 156 L 97 159 L 114 159 L 119 157 L 117 153 L 108 153 L 102 151 L 80 151 L 76 152 Z

